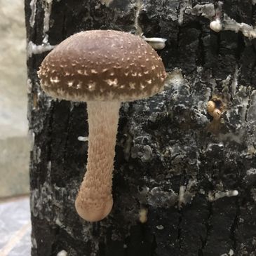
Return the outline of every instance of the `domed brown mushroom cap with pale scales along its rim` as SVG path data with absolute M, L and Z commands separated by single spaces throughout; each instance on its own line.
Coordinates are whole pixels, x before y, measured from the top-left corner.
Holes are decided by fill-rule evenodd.
M 130 101 L 163 88 L 166 72 L 139 36 L 113 30 L 74 34 L 54 48 L 39 69 L 43 90 L 73 101 Z

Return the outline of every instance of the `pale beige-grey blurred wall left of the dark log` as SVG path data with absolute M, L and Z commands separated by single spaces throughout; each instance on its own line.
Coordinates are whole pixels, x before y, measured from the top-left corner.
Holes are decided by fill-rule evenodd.
M 0 197 L 26 194 L 27 69 L 24 2 L 0 0 Z

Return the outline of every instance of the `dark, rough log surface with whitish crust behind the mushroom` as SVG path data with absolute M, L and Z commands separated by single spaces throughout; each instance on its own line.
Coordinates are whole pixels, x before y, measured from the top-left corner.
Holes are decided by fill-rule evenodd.
M 252 2 L 226 0 L 223 12 L 254 25 Z M 27 38 L 36 45 L 87 29 L 135 32 L 139 13 L 145 36 L 168 39 L 159 55 L 170 72 L 163 93 L 122 105 L 114 208 L 91 224 L 74 209 L 87 158 L 88 144 L 78 140 L 88 135 L 86 104 L 46 97 L 36 70 L 47 52 L 30 54 L 32 255 L 254 256 L 255 40 L 210 31 L 194 7 L 216 1 L 143 4 L 139 13 L 135 0 L 25 0 Z M 214 95 L 226 105 L 220 123 L 206 112 Z

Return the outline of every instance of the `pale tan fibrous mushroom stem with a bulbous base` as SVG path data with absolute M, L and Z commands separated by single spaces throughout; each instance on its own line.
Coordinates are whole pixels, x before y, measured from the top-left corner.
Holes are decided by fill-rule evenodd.
M 86 175 L 76 198 L 76 211 L 97 222 L 112 210 L 112 172 L 121 102 L 87 102 L 89 147 Z

